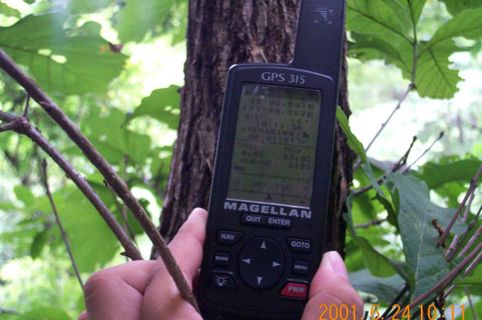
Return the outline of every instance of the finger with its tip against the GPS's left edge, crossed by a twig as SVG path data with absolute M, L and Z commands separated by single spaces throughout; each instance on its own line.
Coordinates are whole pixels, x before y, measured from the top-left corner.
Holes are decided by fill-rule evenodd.
M 195 209 L 169 245 L 191 288 L 192 280 L 196 277 L 202 261 L 206 221 L 207 212 L 204 209 Z M 195 309 L 182 299 L 164 263 L 158 259 L 148 280 L 141 318 L 159 319 L 169 314 L 170 319 L 192 319 L 195 313 Z

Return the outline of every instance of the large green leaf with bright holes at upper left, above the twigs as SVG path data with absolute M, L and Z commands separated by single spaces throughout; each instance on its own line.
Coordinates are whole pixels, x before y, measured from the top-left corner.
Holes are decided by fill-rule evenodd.
M 26 16 L 0 28 L 0 47 L 26 65 L 45 91 L 104 93 L 122 71 L 126 56 L 109 50 L 97 23 L 86 23 L 68 35 L 63 28 L 66 18 L 61 13 Z

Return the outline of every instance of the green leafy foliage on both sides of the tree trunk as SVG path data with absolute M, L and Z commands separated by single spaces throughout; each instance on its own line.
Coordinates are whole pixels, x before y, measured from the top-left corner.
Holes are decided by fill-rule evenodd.
M 97 150 L 121 177 L 125 176 L 128 186 L 146 198 L 142 199 L 143 206 L 158 210 L 172 153 L 172 139 L 164 141 L 163 136 L 177 128 L 180 87 L 173 84 L 142 92 L 135 80 L 142 75 L 136 74 L 129 55 L 136 45 L 152 43 L 159 37 L 168 37 L 171 43 L 182 42 L 187 2 L 25 2 L 29 5 L 18 9 L 0 3 L 0 16 L 6 19 L 0 22 L 10 21 L 0 27 L 0 48 L 55 96 Z M 436 18 L 427 14 L 433 6 L 443 5 L 447 6 L 446 13 Z M 476 50 L 481 41 L 481 16 L 482 3 L 477 0 L 349 0 L 349 55 L 362 62 L 382 59 L 397 67 L 420 96 L 449 99 L 461 82 L 451 56 Z M 119 42 L 124 48 L 113 45 Z M 24 93 L 6 75 L 0 78 L 1 109 L 21 114 L 26 103 Z M 31 106 L 29 118 L 87 177 L 122 224 L 121 202 L 80 150 L 65 141 L 64 133 L 38 106 Z M 406 283 L 409 292 L 404 299 L 412 301 L 453 268 L 453 263 L 444 258 L 444 249 L 434 245 L 439 234 L 433 220 L 447 226 L 480 160 L 475 155 L 454 155 L 422 164 L 417 171 L 392 172 L 378 180 L 392 170 L 394 163 L 368 157 L 341 110 L 337 118 L 349 146 L 361 159 L 354 183 L 358 190 L 373 187 L 367 192 L 353 192 L 347 201 L 344 219 L 348 225 L 346 265 L 350 280 L 385 307 Z M 16 133 L 2 132 L 0 137 L 0 150 L 4 152 L 0 158 L 0 292 L 6 292 L 9 285 L 16 285 L 2 281 L 13 281 L 6 276 L 9 263 L 29 259 L 25 265 L 48 262 L 49 266 L 57 263 L 63 268 L 66 250 L 40 184 L 38 167 L 45 154 Z M 83 277 L 119 262 L 115 258 L 119 257 L 119 243 L 92 205 L 55 165 L 49 165 L 48 172 L 53 199 Z M 468 221 L 474 217 L 471 212 Z M 361 227 L 376 220 L 381 223 Z M 141 240 L 143 231 L 130 214 L 127 224 Z M 476 227 L 480 225 L 478 222 Z M 447 242 L 465 230 L 466 224 L 457 221 Z M 62 270 L 59 274 L 67 274 Z M 74 282 L 70 273 L 65 277 Z M 54 277 L 48 275 L 45 282 Z M 479 266 L 454 283 L 469 286 L 473 298 L 481 299 L 481 277 Z M 44 291 L 45 287 L 38 285 Z M 23 312 L 22 319 L 71 319 L 82 311 L 82 293 L 78 287 L 65 287 L 69 288 L 67 292 L 57 294 L 57 286 L 53 286 L 55 294 L 38 299 L 37 292 L 32 293 L 26 304 L 13 304 L 13 298 L 0 299 L 0 308 L 18 308 Z M 450 302 L 464 302 L 464 294 L 456 289 Z M 9 304 L 4 306 L 6 302 Z M 475 307 L 482 314 L 480 301 Z M 9 318 L 18 316 L 0 312 L 0 319 Z

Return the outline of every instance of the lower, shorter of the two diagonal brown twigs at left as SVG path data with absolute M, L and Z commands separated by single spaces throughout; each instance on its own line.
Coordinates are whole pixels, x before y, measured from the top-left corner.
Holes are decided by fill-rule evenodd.
M 128 238 L 124 229 L 121 227 L 119 222 L 114 218 L 114 215 L 111 214 L 111 211 L 107 208 L 107 206 L 102 202 L 99 195 L 92 189 L 89 182 L 85 180 L 82 175 L 80 175 L 77 170 L 75 170 L 72 165 L 60 154 L 54 147 L 51 145 L 48 140 L 46 140 L 40 132 L 28 122 L 27 118 L 13 116 L 12 114 L 8 114 L 5 111 L 0 110 L 0 119 L 13 119 L 11 123 L 13 123 L 13 131 L 17 133 L 21 133 L 25 136 L 28 136 L 34 143 L 40 146 L 45 153 L 50 155 L 57 165 L 59 165 L 62 170 L 64 170 L 67 177 L 70 177 L 72 181 L 77 185 L 77 187 L 82 191 L 82 193 L 89 199 L 89 201 L 94 205 L 95 209 L 99 211 L 99 214 L 104 218 L 107 225 L 116 235 L 119 242 L 126 250 L 128 256 L 133 260 L 142 260 L 141 253 L 137 250 L 136 246 L 133 245 L 131 239 Z

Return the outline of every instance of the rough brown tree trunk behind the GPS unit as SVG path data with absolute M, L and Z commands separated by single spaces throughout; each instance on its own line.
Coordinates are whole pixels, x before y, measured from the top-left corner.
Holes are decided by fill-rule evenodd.
M 299 0 L 190 0 L 185 86 L 160 232 L 170 241 L 197 206 L 207 208 L 226 72 L 234 63 L 292 59 Z M 346 59 L 339 104 L 346 99 Z M 327 250 L 344 249 L 341 218 L 353 154 L 336 128 Z

